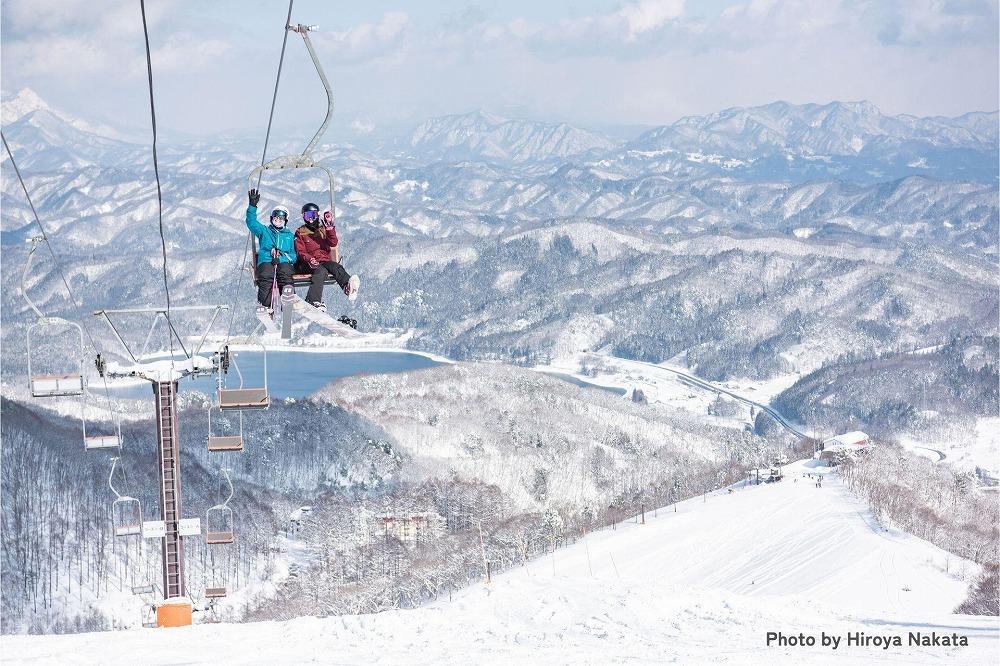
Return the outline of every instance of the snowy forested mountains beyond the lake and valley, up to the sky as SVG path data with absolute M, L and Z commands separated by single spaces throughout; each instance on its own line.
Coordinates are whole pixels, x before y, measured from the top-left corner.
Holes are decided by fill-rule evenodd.
M 94 134 L 27 91 L 5 104 L 14 121 L 4 132 L 74 279 L 90 285 L 95 305 L 157 300 L 156 267 L 135 260 L 158 254 L 148 147 Z M 575 339 L 568 315 L 579 313 L 606 321 L 585 347 L 647 360 L 687 352 L 710 377 L 763 377 L 811 371 L 850 349 L 879 354 L 991 335 L 983 313 L 996 301 L 996 163 L 992 183 L 909 176 L 868 184 L 830 174 L 801 183 L 722 175 L 724 161 L 705 153 L 654 155 L 639 143 L 703 135 L 744 161 L 756 159 L 746 152 L 751 139 L 761 154 L 849 158 L 848 136 L 988 151 L 996 137 L 989 117 L 996 114 L 921 120 L 869 104 L 776 103 L 601 148 L 566 126 L 476 113 L 429 121 L 403 156 L 323 146 L 320 157 L 338 174 L 346 261 L 368 278 L 363 326 L 415 328 L 412 344 L 457 358 L 520 350 L 524 360 L 563 350 L 561 340 Z M 465 151 L 458 162 L 421 157 L 456 147 Z M 470 157 L 496 150 L 507 157 Z M 589 152 L 556 157 L 577 150 Z M 244 177 L 259 157 L 235 139 L 167 138 L 160 154 L 171 279 L 190 298 L 228 302 L 245 233 Z M 4 175 L 0 242 L 17 258 L 37 230 L 6 160 Z M 322 202 L 322 188 L 315 176 L 269 179 L 264 205 Z M 111 267 L 118 279 L 101 279 Z M 15 283 L 17 270 L 16 259 L 5 262 L 4 280 Z M 475 288 L 456 301 L 455 284 Z M 44 272 L 29 287 L 40 303 L 64 307 Z M 4 304 L 16 330 L 26 307 L 13 293 Z M 720 326 L 750 319 L 749 336 Z M 522 323 L 511 329 L 509 321 Z

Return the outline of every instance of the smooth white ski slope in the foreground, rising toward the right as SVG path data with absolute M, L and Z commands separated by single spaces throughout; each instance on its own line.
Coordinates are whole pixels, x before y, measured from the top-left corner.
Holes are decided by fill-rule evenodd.
M 827 475 L 817 488 L 806 473 Z M 646 514 L 416 610 L 64 636 L 4 636 L 5 664 L 992 664 L 997 618 L 952 615 L 977 568 L 883 531 L 812 461 L 781 483 Z M 816 637 L 768 647 L 769 631 Z M 908 632 L 968 647 L 910 647 Z M 903 647 L 820 645 L 821 632 Z M 846 639 L 844 639 L 846 641 Z

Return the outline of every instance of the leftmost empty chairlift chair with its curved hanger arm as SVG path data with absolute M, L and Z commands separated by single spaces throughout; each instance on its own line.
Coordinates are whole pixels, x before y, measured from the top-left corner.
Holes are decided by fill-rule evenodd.
M 24 262 L 24 270 L 21 272 L 21 295 L 37 316 L 35 322 L 28 326 L 28 331 L 25 334 L 28 353 L 28 388 L 31 390 L 33 398 L 83 395 L 84 386 L 86 385 L 83 377 L 83 329 L 80 328 L 79 324 L 60 317 L 46 317 L 28 296 L 28 289 L 25 286 L 25 281 L 31 270 L 31 259 L 35 254 L 35 250 L 38 249 L 38 245 L 43 241 L 44 239 L 40 236 L 31 239 L 31 250 L 28 251 L 28 257 Z M 75 329 L 72 348 L 79 350 L 76 355 L 76 363 L 64 365 L 62 368 L 57 367 L 58 364 L 47 364 L 49 368 L 47 373 L 38 372 L 38 364 L 32 362 L 34 354 L 32 353 L 31 341 L 37 339 L 43 333 L 45 337 L 52 338 L 58 334 L 57 329 L 65 331 L 67 328 Z M 72 356 L 69 358 L 72 358 Z

